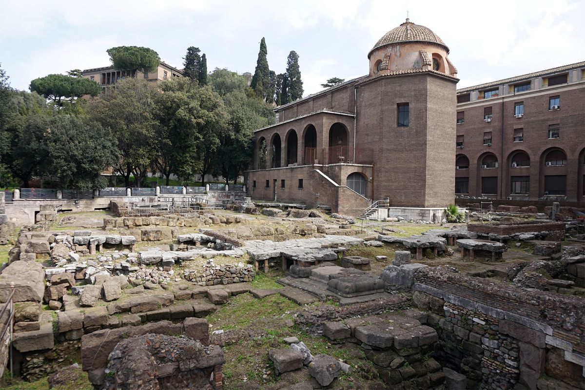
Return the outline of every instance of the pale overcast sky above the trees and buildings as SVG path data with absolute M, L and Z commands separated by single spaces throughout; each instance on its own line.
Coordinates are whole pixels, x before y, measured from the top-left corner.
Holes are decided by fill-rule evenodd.
M 458 88 L 585 61 L 585 1 L 394 2 L 2 0 L 0 63 L 12 87 L 50 73 L 109 65 L 113 46 L 146 46 L 183 68 L 189 46 L 215 67 L 254 72 L 261 37 L 270 69 L 300 56 L 305 95 L 330 77 L 367 74 L 367 53 L 404 22 L 449 46 Z

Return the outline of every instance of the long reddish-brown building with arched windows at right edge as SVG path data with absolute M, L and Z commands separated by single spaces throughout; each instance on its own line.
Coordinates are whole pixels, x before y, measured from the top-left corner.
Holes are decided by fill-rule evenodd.
M 458 198 L 585 200 L 585 62 L 457 90 Z

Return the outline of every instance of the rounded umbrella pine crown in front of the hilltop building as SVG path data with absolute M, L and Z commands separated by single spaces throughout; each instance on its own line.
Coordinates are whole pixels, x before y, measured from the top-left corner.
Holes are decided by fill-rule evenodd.
M 148 47 L 117 46 L 107 50 L 114 68 L 143 73 L 154 72 L 160 64 L 159 54 Z

